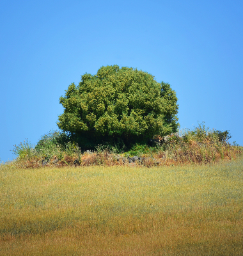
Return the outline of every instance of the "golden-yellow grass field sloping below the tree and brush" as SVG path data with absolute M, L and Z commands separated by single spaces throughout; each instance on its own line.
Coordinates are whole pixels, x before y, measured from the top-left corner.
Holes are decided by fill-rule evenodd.
M 0 167 L 0 255 L 243 255 L 243 157 Z

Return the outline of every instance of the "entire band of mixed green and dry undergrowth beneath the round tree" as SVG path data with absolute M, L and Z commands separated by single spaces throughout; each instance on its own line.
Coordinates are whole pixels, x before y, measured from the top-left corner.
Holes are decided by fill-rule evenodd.
M 26 141 L 15 145 L 14 162 L 23 168 L 42 166 L 91 166 L 133 164 L 163 166 L 180 164 L 207 164 L 221 159 L 234 159 L 242 154 L 242 147 L 230 145 L 229 131 L 210 130 L 199 124 L 194 130 L 186 129 L 168 136 L 154 136 L 150 143 L 135 143 L 129 150 L 98 145 L 95 150 L 82 150 L 65 132 L 51 131 L 33 147 Z

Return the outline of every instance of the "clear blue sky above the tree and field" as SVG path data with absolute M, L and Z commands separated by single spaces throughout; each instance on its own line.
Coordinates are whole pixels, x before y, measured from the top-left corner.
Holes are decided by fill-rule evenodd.
M 180 128 L 243 145 L 242 1 L 1 1 L 0 159 L 58 129 L 59 97 L 106 65 L 171 84 Z

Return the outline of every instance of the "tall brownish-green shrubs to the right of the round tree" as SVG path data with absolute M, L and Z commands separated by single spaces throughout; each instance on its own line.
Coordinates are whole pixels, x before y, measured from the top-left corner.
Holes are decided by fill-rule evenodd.
M 211 163 L 232 159 L 242 153 L 242 148 L 226 143 L 230 138 L 229 131 L 209 129 L 204 122 L 192 131 L 181 132 L 181 136 L 171 134 L 168 137 L 157 154 L 164 159 L 164 164 Z

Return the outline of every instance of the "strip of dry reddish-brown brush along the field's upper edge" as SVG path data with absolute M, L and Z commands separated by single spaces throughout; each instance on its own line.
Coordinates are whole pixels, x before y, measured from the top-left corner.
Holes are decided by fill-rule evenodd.
M 58 167 L 63 166 L 169 166 L 181 164 L 208 164 L 217 163 L 221 159 L 235 159 L 242 154 L 242 147 L 231 146 L 226 143 L 199 143 L 198 141 L 189 141 L 189 143 L 170 142 L 167 148 L 161 148 L 157 154 L 149 157 L 141 157 L 141 161 L 130 163 L 126 160 L 123 162 L 122 157 L 118 158 L 107 150 L 103 152 L 84 153 L 80 157 L 64 155 L 62 159 L 56 156 L 46 160 L 43 158 L 32 157 L 19 159 L 15 165 L 19 168 L 40 168 L 43 166 Z

